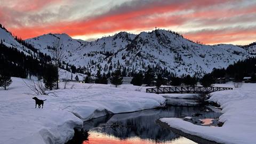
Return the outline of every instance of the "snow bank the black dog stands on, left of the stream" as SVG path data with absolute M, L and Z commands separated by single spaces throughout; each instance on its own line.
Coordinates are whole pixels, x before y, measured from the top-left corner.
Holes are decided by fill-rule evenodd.
M 43 109 L 35 109 L 34 96 L 23 84 L 26 79 L 12 77 L 9 90 L 0 89 L 0 143 L 65 143 L 82 128 L 83 120 L 108 113 L 124 113 L 163 105 L 158 94 L 135 91 L 138 86 L 113 87 L 101 84 L 68 83 L 58 90 L 59 97 L 47 99 Z M 60 83 L 63 87 L 63 83 Z M 138 90 L 138 89 L 137 89 Z M 78 118 L 79 117 L 79 118 Z

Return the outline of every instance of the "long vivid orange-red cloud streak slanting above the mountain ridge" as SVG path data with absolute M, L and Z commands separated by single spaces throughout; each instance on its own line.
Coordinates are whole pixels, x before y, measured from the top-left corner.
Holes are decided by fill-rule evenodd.
M 97 33 L 112 33 L 121 30 L 133 30 L 140 28 L 154 28 L 154 27 L 167 27 L 182 25 L 185 19 L 179 16 L 172 17 L 157 17 L 159 14 L 170 13 L 174 11 L 184 10 L 190 7 L 190 4 L 199 5 L 216 4 L 218 1 L 203 2 L 193 1 L 178 5 L 171 3 L 169 5 L 157 5 L 154 3 L 143 7 L 143 9 L 128 11 L 124 13 L 117 13 L 112 15 L 101 15 L 99 17 L 71 22 L 58 22 L 47 26 L 34 26 L 34 27 L 21 27 L 10 28 L 11 31 L 22 38 L 30 38 L 45 33 L 67 33 L 71 36 L 76 35 L 90 35 Z M 152 18 L 153 17 L 153 18 Z

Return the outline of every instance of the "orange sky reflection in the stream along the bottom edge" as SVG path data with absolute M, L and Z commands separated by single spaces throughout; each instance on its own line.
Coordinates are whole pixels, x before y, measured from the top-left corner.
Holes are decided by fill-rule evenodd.
M 105 133 L 100 133 L 96 131 L 89 131 L 89 141 L 84 141 L 83 144 L 85 143 L 94 143 L 94 144 L 117 144 L 117 143 L 122 143 L 122 144 L 149 144 L 149 143 L 171 143 L 171 144 L 194 144 L 195 142 L 190 141 L 187 138 L 184 137 L 179 137 L 174 140 L 170 141 L 165 141 L 165 142 L 155 142 L 154 140 L 149 140 L 149 139 L 140 139 L 139 137 L 132 137 L 132 138 L 127 138 L 127 139 L 120 139 L 116 138 L 113 135 L 108 135 Z

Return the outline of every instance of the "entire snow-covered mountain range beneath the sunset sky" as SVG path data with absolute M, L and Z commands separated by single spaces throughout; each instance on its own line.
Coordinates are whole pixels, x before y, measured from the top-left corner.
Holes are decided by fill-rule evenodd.
M 50 54 L 54 41 L 60 39 L 65 50 L 65 61 L 85 67 L 95 73 L 117 68 L 127 72 L 145 70 L 147 66 L 173 74 L 202 75 L 213 68 L 225 68 L 250 56 L 239 46 L 231 44 L 203 45 L 167 30 L 154 30 L 133 35 L 126 32 L 103 37 L 94 42 L 73 39 L 67 34 L 46 34 L 27 39 L 41 52 Z

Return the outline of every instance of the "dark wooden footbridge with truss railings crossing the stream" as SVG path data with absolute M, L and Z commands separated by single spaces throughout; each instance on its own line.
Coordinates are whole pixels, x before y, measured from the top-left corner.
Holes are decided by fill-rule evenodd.
M 146 89 L 147 93 L 211 93 L 215 91 L 233 90 L 231 87 L 204 87 L 204 86 L 170 86 Z

